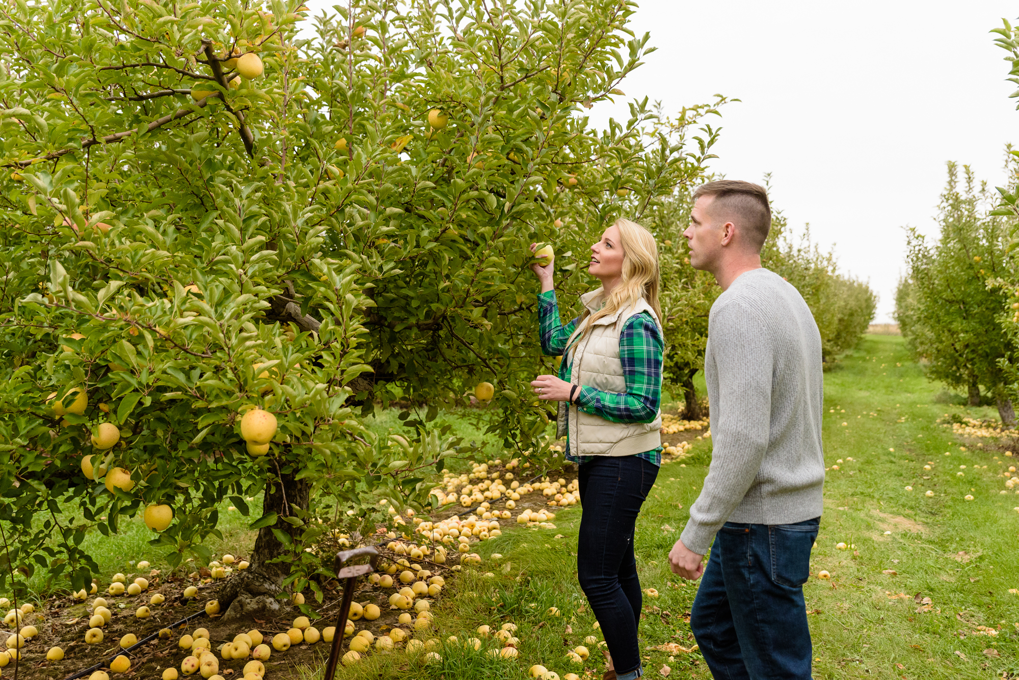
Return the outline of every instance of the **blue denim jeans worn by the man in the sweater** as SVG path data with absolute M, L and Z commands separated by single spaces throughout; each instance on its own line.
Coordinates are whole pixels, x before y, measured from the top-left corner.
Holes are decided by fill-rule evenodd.
M 803 584 L 820 518 L 796 524 L 726 522 L 690 614 L 718 680 L 809 680 Z

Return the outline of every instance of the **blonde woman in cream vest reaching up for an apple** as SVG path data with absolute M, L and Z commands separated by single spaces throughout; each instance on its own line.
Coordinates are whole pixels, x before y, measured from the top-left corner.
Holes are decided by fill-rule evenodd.
M 601 287 L 581 296 L 586 308 L 567 326 L 552 263 L 532 269 L 541 348 L 565 359 L 558 377 L 531 385 L 539 398 L 569 404 L 567 460 L 580 465 L 583 508 L 577 574 L 608 645 L 604 680 L 633 680 L 643 675 L 634 524 L 661 464 L 658 248 L 647 229 L 616 220 L 591 246 L 588 272 Z

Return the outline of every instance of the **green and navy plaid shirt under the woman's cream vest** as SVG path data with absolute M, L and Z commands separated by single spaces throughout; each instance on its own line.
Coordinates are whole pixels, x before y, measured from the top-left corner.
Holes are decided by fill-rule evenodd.
M 578 319 L 562 325 L 555 291 L 538 295 L 538 319 L 541 333 L 541 350 L 549 356 L 564 356 L 559 364 L 559 379 L 570 382 L 573 361 L 567 354 L 567 341 L 577 329 Z M 624 324 L 620 333 L 620 361 L 626 392 L 604 392 L 590 386 L 581 386 L 577 395 L 577 408 L 585 413 L 599 415 L 612 422 L 652 422 L 658 416 L 661 404 L 661 355 L 664 343 L 661 331 L 651 315 L 634 315 Z M 586 463 L 597 456 L 574 456 L 567 440 L 567 460 Z M 661 448 L 638 453 L 652 465 L 661 465 Z

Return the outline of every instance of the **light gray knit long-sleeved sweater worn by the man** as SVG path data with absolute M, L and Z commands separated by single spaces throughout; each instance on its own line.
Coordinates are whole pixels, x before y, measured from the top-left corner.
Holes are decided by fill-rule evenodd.
M 711 305 L 704 378 L 711 466 L 683 544 L 701 555 L 727 521 L 792 524 L 821 514 L 821 338 L 799 291 L 766 269 Z

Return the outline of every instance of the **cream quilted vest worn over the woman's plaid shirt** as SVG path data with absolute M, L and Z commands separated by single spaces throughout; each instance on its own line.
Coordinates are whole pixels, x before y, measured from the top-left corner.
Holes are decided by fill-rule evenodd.
M 580 298 L 591 315 L 601 308 L 601 293 L 602 289 L 598 288 Z M 644 298 L 628 309 L 599 319 L 591 333 L 570 350 L 573 360 L 570 382 L 605 392 L 626 392 L 627 383 L 620 361 L 620 333 L 630 317 L 642 311 L 648 311 L 661 329 L 661 322 Z M 591 317 L 584 320 L 570 342 L 590 320 Z M 575 456 L 632 456 L 661 446 L 660 410 L 653 422 L 611 422 L 571 404 L 569 424 L 570 453 Z

